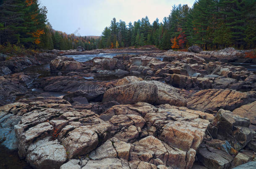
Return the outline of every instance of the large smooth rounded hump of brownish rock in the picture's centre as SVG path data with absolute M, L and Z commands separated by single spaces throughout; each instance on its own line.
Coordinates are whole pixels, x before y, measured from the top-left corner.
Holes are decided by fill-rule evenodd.
M 104 93 L 102 102 L 110 100 L 117 101 L 121 104 L 143 101 L 152 104 L 169 103 L 177 106 L 186 105 L 186 101 L 181 96 L 178 88 L 158 81 L 137 81 L 110 88 Z

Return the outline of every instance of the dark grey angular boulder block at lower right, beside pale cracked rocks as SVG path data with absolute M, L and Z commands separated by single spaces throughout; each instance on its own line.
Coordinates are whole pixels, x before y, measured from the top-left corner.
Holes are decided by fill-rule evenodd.
M 218 129 L 217 138 L 227 140 L 237 151 L 243 149 L 255 135 L 248 128 L 249 119 L 232 114 L 231 111 L 219 109 L 212 124 Z

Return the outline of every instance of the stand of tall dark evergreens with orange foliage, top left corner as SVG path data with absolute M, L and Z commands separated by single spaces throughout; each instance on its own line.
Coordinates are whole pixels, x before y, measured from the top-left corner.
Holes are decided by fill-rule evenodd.
M 46 13 L 37 0 L 4 0 L 0 5 L 0 42 L 38 45 L 44 34 Z

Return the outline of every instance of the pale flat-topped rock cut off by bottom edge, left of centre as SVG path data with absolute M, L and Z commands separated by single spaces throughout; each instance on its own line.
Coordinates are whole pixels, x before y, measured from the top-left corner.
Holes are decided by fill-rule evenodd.
M 89 160 L 82 169 L 130 169 L 128 162 L 121 159 Z

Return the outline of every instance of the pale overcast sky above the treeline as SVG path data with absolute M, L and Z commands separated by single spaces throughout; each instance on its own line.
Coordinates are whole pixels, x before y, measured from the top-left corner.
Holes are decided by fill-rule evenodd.
M 100 36 L 110 21 L 116 18 L 128 25 L 131 21 L 148 16 L 150 23 L 158 18 L 162 22 L 173 5 L 188 4 L 195 0 L 39 0 L 46 6 L 48 22 L 52 28 L 65 33 Z

